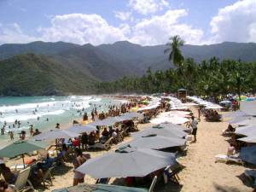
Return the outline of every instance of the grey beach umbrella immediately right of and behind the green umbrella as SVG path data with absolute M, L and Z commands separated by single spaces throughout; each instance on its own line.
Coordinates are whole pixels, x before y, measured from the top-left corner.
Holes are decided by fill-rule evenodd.
M 59 138 L 79 137 L 79 134 L 67 130 L 49 130 L 32 137 L 34 140 L 54 140 Z

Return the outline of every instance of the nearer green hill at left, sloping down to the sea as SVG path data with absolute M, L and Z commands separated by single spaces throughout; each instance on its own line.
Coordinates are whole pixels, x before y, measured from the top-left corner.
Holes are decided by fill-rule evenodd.
M 93 84 L 84 73 L 42 55 L 16 55 L 0 61 L 0 96 L 90 94 Z

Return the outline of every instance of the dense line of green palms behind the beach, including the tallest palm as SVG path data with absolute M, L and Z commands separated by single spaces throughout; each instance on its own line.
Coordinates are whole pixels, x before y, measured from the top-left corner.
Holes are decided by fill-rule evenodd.
M 143 77 L 124 77 L 113 82 L 96 84 L 98 93 L 162 93 L 177 92 L 183 88 L 190 95 L 225 96 L 227 94 L 256 92 L 256 62 L 234 60 L 219 61 L 213 57 L 196 63 L 193 58 L 184 58 L 180 47 L 184 42 L 178 36 L 167 44 L 169 60 L 175 68 L 152 72 L 148 68 Z

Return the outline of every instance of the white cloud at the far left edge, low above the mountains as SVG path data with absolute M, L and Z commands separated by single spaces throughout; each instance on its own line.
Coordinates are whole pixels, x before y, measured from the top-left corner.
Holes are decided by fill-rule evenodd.
M 36 41 L 37 38 L 26 35 L 17 23 L 3 25 L 0 23 L 0 44 L 23 44 Z

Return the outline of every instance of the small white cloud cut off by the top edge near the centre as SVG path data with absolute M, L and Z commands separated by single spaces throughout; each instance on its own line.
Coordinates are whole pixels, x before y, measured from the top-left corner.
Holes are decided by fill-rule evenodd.
M 130 0 L 129 6 L 139 14 L 148 15 L 169 7 L 169 3 L 166 0 Z

